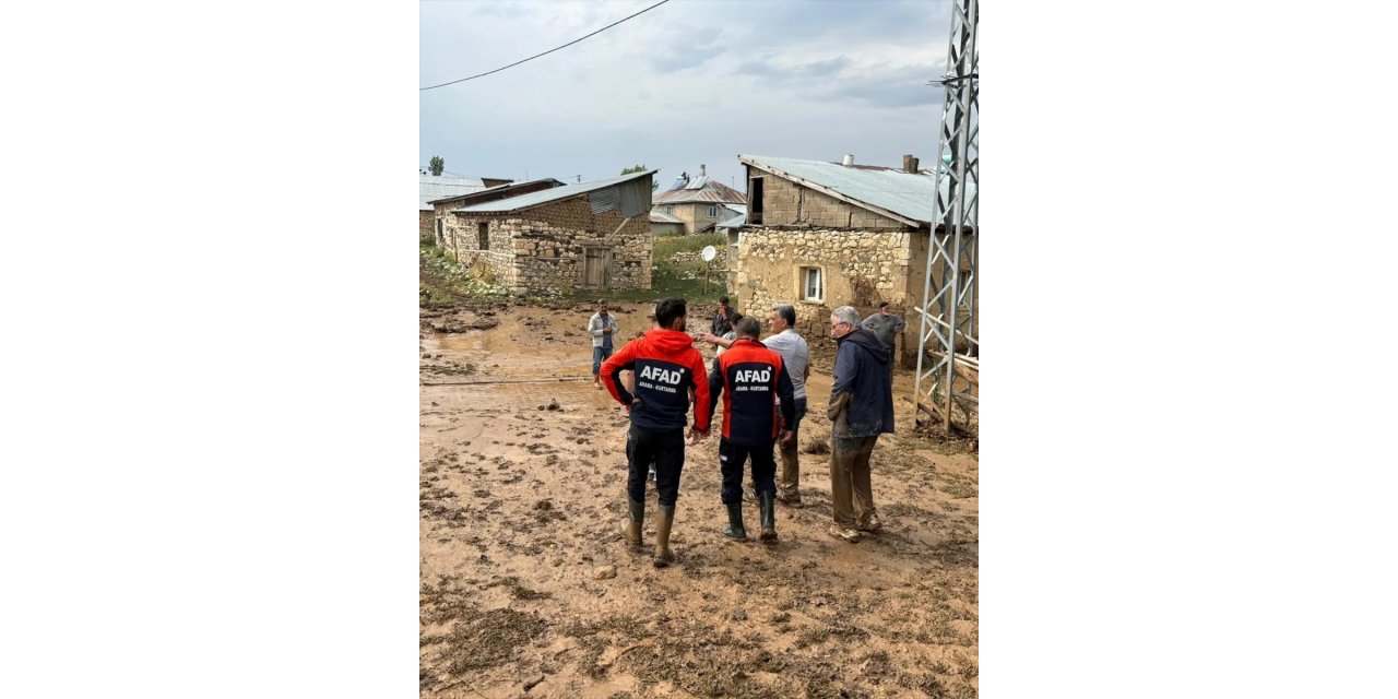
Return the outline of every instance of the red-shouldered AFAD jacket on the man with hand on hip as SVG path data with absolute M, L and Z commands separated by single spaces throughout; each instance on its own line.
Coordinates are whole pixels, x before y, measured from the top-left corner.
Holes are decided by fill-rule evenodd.
M 617 373 L 624 369 L 635 373 L 635 396 L 617 380 Z M 640 404 L 630 410 L 633 425 L 654 432 L 684 429 L 689 396 L 693 394 L 695 429 L 709 429 L 712 405 L 703 356 L 693 348 L 693 338 L 688 334 L 678 330 L 647 330 L 603 362 L 597 373 L 622 405 L 632 405 L 635 398 L 640 398 Z

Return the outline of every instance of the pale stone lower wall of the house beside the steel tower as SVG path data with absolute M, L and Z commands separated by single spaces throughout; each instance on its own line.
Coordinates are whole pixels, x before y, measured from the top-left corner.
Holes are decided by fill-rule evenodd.
M 907 320 L 906 310 L 921 295 L 920 287 L 911 288 L 921 275 L 910 264 L 917 235 L 907 229 L 745 226 L 731 275 L 738 310 L 761 315 L 774 303 L 791 303 L 795 329 L 807 338 L 823 337 L 830 310 L 839 306 L 854 306 L 868 316 L 888 301 Z M 802 267 L 821 270 L 823 298 L 801 298 Z

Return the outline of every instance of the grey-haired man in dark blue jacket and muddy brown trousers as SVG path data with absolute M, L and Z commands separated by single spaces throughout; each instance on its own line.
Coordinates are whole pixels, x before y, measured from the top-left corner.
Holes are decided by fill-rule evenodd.
M 830 312 L 835 379 L 830 384 L 830 535 L 858 541 L 860 531 L 878 531 L 870 485 L 870 456 L 884 432 L 893 432 L 893 352 L 874 333 L 860 327 L 860 312 L 840 306 Z

